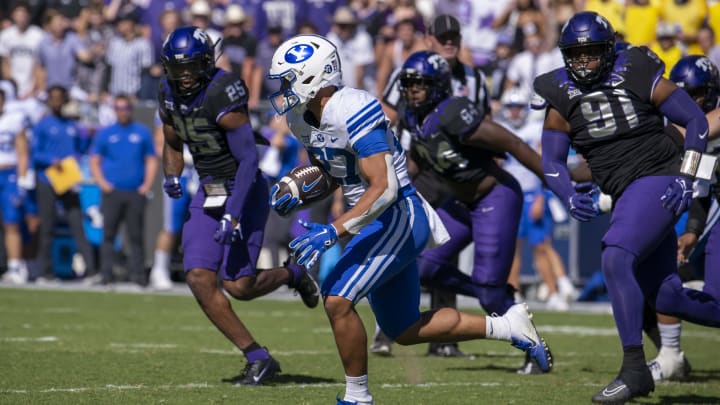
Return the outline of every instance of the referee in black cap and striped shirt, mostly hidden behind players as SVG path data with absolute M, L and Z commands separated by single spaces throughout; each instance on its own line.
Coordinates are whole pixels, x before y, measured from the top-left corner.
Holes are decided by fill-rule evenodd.
M 432 24 L 428 28 L 425 36 L 428 48 L 445 58 L 450 64 L 452 73 L 453 96 L 467 97 L 478 107 L 485 111 L 485 119 L 491 119 L 490 103 L 488 100 L 487 85 L 485 75 L 473 66 L 466 65 L 458 59 L 461 51 L 462 36 L 460 34 L 460 23 L 451 15 L 439 15 L 435 17 Z M 410 136 L 402 128 L 397 118 L 402 116 L 404 111 L 404 101 L 400 93 L 400 76 L 401 69 L 395 69 L 390 76 L 388 85 L 382 95 L 382 104 L 385 114 L 394 124 L 398 124 L 397 133 L 403 143 L 403 147 L 407 150 L 410 147 Z M 445 190 L 443 180 L 431 171 L 424 170 L 413 179 L 413 184 L 425 197 L 433 207 L 438 207 L 444 202 L 445 196 L 451 195 L 449 190 Z M 457 299 L 454 293 L 433 290 L 431 292 L 431 307 L 433 309 L 440 307 L 456 307 Z M 375 341 L 370 347 L 370 352 L 387 355 L 391 351 L 391 342 L 384 334 L 376 328 Z M 458 348 L 457 343 L 431 343 L 428 348 L 429 356 L 440 357 L 468 357 Z

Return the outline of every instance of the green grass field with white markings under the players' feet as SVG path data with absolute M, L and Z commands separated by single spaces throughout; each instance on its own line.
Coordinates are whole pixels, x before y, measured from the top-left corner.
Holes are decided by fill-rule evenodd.
M 320 308 L 297 301 L 233 302 L 283 373 L 274 386 L 234 387 L 245 363 L 189 295 L 0 289 L 2 404 L 334 404 L 343 371 Z M 372 333 L 367 305 L 359 310 Z M 469 359 L 425 357 L 427 345 L 370 359 L 382 404 L 584 404 L 620 365 L 608 315 L 536 312 L 556 358 L 552 373 L 520 376 L 522 353 L 497 341 L 466 342 Z M 720 403 L 717 330 L 683 325 L 693 366 L 640 403 Z M 648 358 L 654 348 L 647 348 Z

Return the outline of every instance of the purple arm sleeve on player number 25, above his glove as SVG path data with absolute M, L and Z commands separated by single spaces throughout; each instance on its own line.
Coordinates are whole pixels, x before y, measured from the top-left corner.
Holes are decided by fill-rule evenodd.
M 239 221 L 250 186 L 255 181 L 258 154 L 255 147 L 255 136 L 249 123 L 228 131 L 226 136 L 228 147 L 238 162 L 238 167 L 235 172 L 235 185 L 225 205 L 225 212 Z

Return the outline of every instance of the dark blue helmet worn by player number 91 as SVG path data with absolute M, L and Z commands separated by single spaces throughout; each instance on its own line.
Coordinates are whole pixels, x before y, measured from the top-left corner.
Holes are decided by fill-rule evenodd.
M 568 75 L 581 86 L 604 79 L 615 63 L 615 31 L 605 17 L 592 11 L 577 13 L 565 23 L 558 47 Z M 591 68 L 595 61 L 598 66 Z

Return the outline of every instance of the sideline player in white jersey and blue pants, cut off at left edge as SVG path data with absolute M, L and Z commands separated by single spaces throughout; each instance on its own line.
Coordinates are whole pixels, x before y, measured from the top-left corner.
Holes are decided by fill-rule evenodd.
M 26 118 L 19 112 L 5 110 L 5 91 L 0 90 L 0 202 L 5 233 L 8 271 L 3 280 L 13 284 L 27 282 L 28 271 L 22 259 L 22 203 L 27 178 L 29 147 L 25 137 Z

